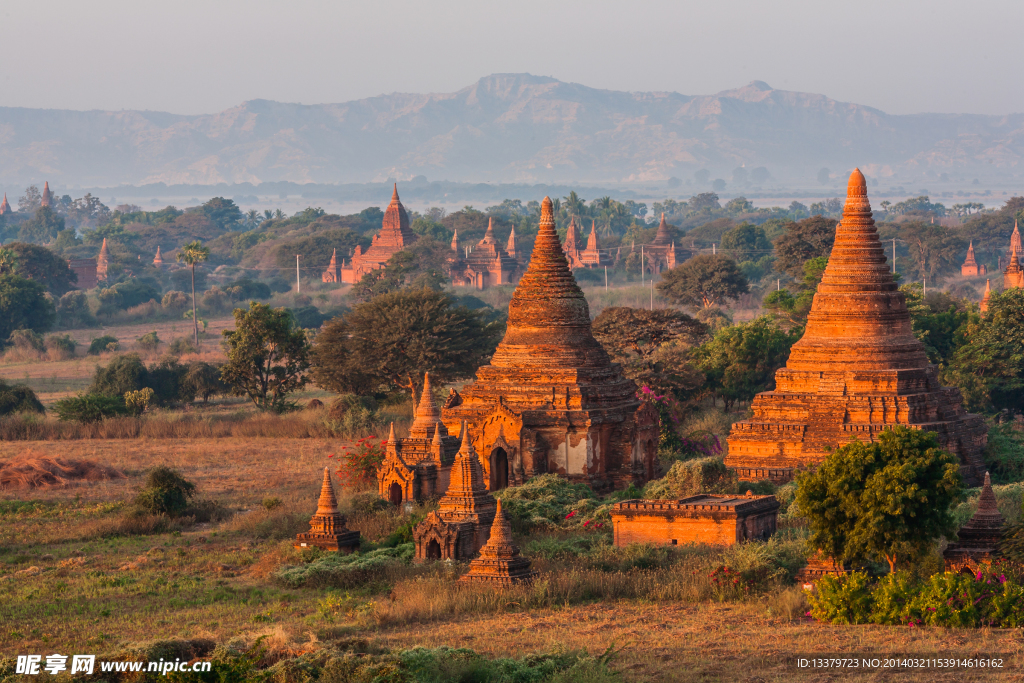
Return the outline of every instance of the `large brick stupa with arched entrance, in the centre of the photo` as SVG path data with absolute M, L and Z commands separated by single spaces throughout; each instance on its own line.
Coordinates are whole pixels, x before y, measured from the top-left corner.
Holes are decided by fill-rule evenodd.
M 490 490 L 545 472 L 608 489 L 654 474 L 657 411 L 636 393 L 594 339 L 545 198 L 505 338 L 441 419 L 449 431 L 469 423 Z

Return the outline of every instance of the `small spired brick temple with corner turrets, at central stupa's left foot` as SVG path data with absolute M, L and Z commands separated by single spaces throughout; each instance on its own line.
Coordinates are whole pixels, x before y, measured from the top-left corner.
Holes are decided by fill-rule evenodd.
M 377 470 L 378 490 L 385 501 L 394 505 L 425 501 L 447 489 L 459 438 L 449 434 L 440 420 L 429 373 L 423 379 L 409 436 L 395 438 L 392 423 L 385 449 L 384 462 Z

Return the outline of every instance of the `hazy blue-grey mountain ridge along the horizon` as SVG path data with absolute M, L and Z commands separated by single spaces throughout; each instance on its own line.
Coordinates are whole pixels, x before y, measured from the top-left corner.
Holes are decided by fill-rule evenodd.
M 777 179 L 1014 173 L 1024 114 L 889 115 L 753 83 L 714 95 L 599 90 L 495 74 L 453 93 L 337 104 L 264 99 L 211 115 L 0 108 L 0 184 L 113 186 L 387 177 L 639 182 L 708 168 Z

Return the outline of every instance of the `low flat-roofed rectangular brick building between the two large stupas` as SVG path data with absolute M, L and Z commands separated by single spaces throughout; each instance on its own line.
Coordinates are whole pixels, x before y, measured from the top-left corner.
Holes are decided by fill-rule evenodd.
M 701 494 L 678 501 L 624 501 L 611 509 L 615 546 L 706 543 L 731 546 L 775 532 L 774 496 Z

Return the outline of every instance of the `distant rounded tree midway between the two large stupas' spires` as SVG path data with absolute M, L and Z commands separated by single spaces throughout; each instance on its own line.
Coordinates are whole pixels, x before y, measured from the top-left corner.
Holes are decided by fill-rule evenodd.
M 662 273 L 657 289 L 670 301 L 711 308 L 750 291 L 736 262 L 721 254 L 700 254 Z

